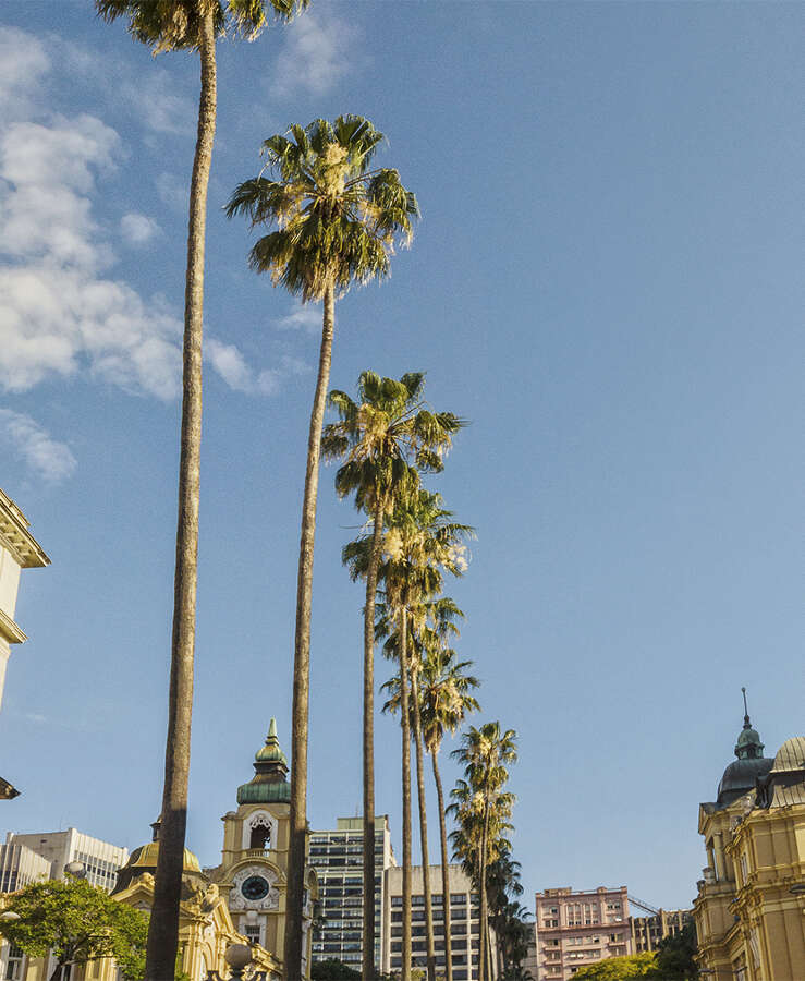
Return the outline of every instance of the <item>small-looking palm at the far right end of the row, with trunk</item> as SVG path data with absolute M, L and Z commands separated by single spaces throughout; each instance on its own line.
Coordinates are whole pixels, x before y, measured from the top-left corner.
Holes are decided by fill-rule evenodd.
M 490 862 L 489 832 L 493 807 L 500 808 L 504 797 L 502 787 L 509 778 L 507 766 L 516 762 L 516 734 L 513 729 L 501 731 L 500 723 L 485 723 L 476 729 L 471 726 L 462 736 L 462 746 L 453 751 L 453 756 L 464 763 L 464 773 L 469 786 L 480 796 L 484 824 L 480 840 L 480 976 L 490 977 L 488 911 L 486 872 Z

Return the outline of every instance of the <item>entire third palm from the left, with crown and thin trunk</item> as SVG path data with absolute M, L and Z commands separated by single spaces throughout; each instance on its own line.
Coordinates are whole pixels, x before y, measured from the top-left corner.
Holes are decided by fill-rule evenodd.
M 364 605 L 365 979 L 371 978 L 375 970 L 375 602 L 383 524 L 397 502 L 415 498 L 420 472 L 438 473 L 443 469 L 443 456 L 452 445 L 453 435 L 464 424 L 452 412 L 430 412 L 424 408 L 424 386 L 425 376 L 420 372 L 403 375 L 399 382 L 381 378 L 375 372 L 363 372 L 358 378 L 357 402 L 346 392 L 330 392 L 330 403 L 341 421 L 330 423 L 321 440 L 328 459 L 345 458 L 336 474 L 339 496 L 354 494 L 355 506 L 371 521 Z M 354 566 L 352 574 L 353 578 L 359 574 Z

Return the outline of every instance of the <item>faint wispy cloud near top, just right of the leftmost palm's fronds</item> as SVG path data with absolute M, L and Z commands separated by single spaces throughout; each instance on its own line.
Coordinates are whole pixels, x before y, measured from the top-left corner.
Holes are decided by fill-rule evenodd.
M 271 93 L 289 97 L 302 90 L 329 92 L 354 66 L 357 31 L 333 14 L 307 11 L 285 28 Z

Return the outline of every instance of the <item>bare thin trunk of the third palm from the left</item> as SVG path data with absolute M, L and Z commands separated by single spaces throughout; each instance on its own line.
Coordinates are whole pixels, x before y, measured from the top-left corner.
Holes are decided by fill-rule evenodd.
M 375 978 L 375 600 L 383 517 L 383 506 L 378 501 L 364 605 L 364 981 Z

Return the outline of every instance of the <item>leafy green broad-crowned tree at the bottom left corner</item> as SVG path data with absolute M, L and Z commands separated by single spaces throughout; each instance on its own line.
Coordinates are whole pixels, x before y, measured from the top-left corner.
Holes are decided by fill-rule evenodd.
M 145 973 L 148 917 L 86 881 L 36 882 L 12 894 L 5 907 L 19 920 L 0 921 L 0 933 L 29 957 L 52 952 L 56 981 L 66 965 L 113 957 L 124 978 Z

